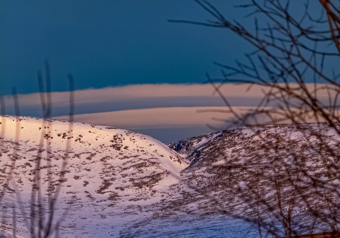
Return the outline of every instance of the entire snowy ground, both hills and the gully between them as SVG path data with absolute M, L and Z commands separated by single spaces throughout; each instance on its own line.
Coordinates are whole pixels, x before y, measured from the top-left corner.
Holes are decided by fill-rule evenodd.
M 235 216 L 282 234 L 278 190 L 299 234 L 332 227 L 321 218 L 312 227 L 325 202 L 337 214 L 339 136 L 326 124 L 242 127 L 169 148 L 94 124 L 0 120 L 0 237 L 38 237 L 49 226 L 52 237 L 258 236 Z

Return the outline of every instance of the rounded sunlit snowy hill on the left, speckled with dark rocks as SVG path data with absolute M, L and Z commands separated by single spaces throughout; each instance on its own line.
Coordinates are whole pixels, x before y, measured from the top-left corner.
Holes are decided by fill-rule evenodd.
M 163 143 L 123 129 L 31 117 L 0 120 L 0 184 L 6 188 L 2 211 L 10 212 L 8 203 L 18 196 L 29 210 L 32 184 L 40 187 L 47 206 L 60 184 L 56 207 L 69 210 L 66 225 L 70 226 L 61 225 L 62 237 L 70 230 L 97 232 L 89 222 L 95 225 L 98 218 L 109 222 L 109 216 L 138 212 L 128 208 L 169 196 L 169 186 L 179 182 L 180 171 L 187 166 Z M 21 221 L 19 217 L 22 214 L 17 215 Z

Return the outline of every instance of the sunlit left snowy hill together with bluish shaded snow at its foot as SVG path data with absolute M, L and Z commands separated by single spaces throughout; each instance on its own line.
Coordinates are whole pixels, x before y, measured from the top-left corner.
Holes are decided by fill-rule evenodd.
M 0 237 L 31 237 L 32 219 L 28 218 L 32 206 L 37 207 L 31 203 L 32 184 L 41 191 L 45 227 L 49 199 L 60 186 L 51 237 L 238 237 L 240 231 L 256 233 L 250 224 L 228 216 L 201 217 L 179 211 L 157 215 L 162 212 L 157 204 L 181 197 L 171 187 L 179 183 L 180 172 L 188 164 L 149 136 L 33 117 L 1 116 L 0 122 L 4 194 Z M 40 182 L 35 177 L 38 171 Z

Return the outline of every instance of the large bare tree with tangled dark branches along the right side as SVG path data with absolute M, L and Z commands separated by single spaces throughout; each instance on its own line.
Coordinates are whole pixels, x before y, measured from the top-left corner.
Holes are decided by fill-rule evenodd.
M 243 197 L 248 208 L 257 214 L 253 222 L 259 225 L 259 232 L 263 228 L 273 236 L 280 236 L 280 230 L 284 230 L 285 237 L 299 235 L 293 228 L 293 223 L 296 225 L 299 220 L 292 213 L 296 207 L 304 206 L 308 209 L 307 219 L 313 221 L 308 228 L 311 233 L 317 223 L 324 223 L 325 230 L 333 231 L 335 236 L 340 225 L 339 2 L 319 0 L 311 5 L 309 1 L 250 0 L 249 4 L 236 6 L 251 10 L 248 19 L 254 26 L 247 28 L 236 20 L 228 20 L 209 1 L 194 1 L 214 19 L 169 21 L 226 28 L 255 48 L 245 54 L 247 63 L 236 60 L 236 66 L 230 66 L 214 62 L 222 68 L 222 78 L 213 79 L 206 74 L 228 112 L 236 118 L 231 123 L 239 126 L 291 123 L 300 133 L 301 140 L 296 141 L 290 138 L 289 131 L 276 138 L 253 131 L 260 138 L 254 146 L 271 151 L 271 155 L 261 164 L 240 155 L 234 159 L 242 163 L 230 165 L 230 160 L 226 160 L 228 163 L 224 166 L 228 169 L 242 168 L 257 181 L 238 186 L 236 195 Z M 320 17 L 310 11 L 315 4 L 319 6 Z M 263 86 L 263 98 L 252 111 L 239 114 L 220 91 L 221 87 L 227 87 L 225 83 Z M 320 95 L 327 95 L 328 100 L 321 99 Z M 309 127 L 300 124 L 307 121 L 325 123 Z M 326 133 L 329 130 L 332 133 Z M 297 143 L 295 146 L 301 151 L 287 151 L 292 142 Z M 244 153 L 249 155 L 251 151 Z M 313 158 L 317 158 L 314 162 L 320 168 L 311 172 Z M 254 172 L 254 168 L 258 171 Z M 261 190 L 261 181 L 274 188 L 273 200 Z M 281 225 L 268 223 L 270 216 Z

